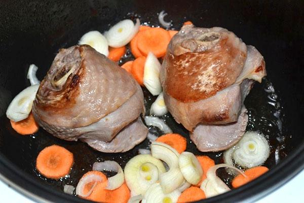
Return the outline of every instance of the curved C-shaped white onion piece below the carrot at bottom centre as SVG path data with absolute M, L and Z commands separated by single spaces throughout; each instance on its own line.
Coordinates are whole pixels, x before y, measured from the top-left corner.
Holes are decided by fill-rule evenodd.
M 171 146 L 160 142 L 152 142 L 150 148 L 153 157 L 165 161 L 169 166 L 169 171 L 160 175 L 164 193 L 176 190 L 184 181 L 178 166 L 179 153 Z

